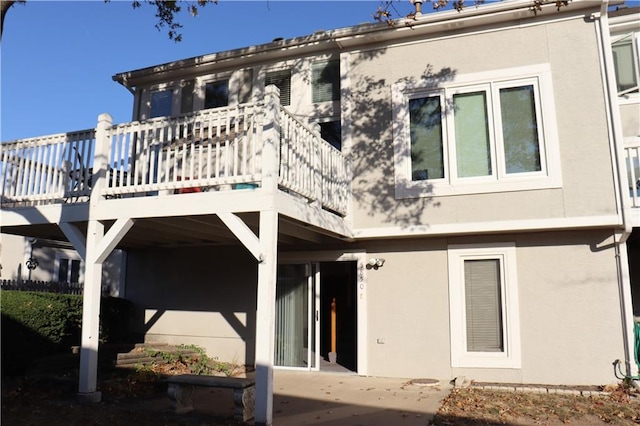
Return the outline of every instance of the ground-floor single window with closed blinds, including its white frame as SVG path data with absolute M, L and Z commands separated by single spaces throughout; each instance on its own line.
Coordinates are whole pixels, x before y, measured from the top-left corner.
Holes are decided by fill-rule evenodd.
M 520 368 L 513 243 L 448 247 L 451 366 Z

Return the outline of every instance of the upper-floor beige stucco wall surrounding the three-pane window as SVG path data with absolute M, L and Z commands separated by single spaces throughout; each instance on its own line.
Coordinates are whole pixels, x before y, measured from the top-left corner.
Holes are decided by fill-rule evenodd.
M 353 53 L 355 227 L 615 214 L 596 43 L 594 24 L 575 19 Z M 392 84 L 533 64 L 551 67 L 562 188 L 395 200 Z

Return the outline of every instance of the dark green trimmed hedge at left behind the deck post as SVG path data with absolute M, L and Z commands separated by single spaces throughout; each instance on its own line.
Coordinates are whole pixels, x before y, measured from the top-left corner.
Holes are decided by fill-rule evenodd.
M 131 303 L 105 297 L 101 308 L 102 341 L 126 341 Z M 0 312 L 3 373 L 22 372 L 39 357 L 80 345 L 82 296 L 3 290 Z

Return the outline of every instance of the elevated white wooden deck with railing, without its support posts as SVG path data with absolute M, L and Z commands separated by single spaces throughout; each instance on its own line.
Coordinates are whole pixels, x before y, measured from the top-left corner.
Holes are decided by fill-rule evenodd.
M 269 93 L 144 122 L 101 115 L 96 129 L 3 143 L 3 232 L 68 239 L 64 224 L 86 235 L 90 220 L 133 219 L 122 247 L 224 244 L 235 237 L 221 215 L 257 230 L 257 213 L 271 209 L 283 243 L 348 239 L 347 159 Z

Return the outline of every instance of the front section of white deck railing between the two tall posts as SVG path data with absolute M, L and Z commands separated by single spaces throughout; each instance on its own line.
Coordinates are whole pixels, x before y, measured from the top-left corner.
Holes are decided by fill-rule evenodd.
M 258 185 L 259 108 L 244 104 L 111 127 L 103 194 Z

